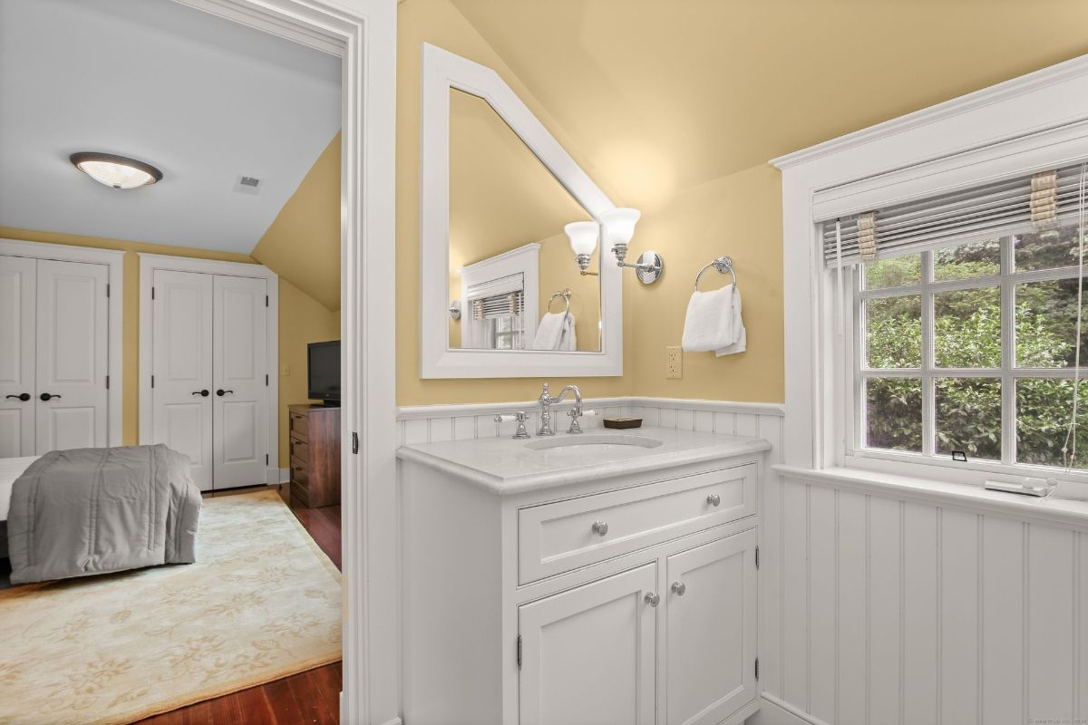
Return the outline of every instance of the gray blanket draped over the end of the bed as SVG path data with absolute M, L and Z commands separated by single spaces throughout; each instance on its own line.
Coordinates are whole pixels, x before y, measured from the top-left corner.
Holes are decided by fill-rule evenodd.
M 12 488 L 12 584 L 196 561 L 200 489 L 165 446 L 52 451 Z

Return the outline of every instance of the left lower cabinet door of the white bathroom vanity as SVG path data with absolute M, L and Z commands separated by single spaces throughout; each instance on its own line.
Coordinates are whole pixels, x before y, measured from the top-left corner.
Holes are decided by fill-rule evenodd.
M 519 609 L 521 725 L 651 725 L 657 564 Z

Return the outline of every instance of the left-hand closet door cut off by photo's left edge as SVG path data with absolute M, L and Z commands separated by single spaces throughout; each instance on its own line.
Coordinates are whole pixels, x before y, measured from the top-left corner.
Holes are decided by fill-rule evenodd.
M 0 257 L 0 458 L 35 454 L 36 275 L 37 260 Z

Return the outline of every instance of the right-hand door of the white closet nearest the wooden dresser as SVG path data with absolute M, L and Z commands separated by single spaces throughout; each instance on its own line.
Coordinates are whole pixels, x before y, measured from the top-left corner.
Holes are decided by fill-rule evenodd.
M 263 484 L 269 465 L 265 282 L 217 275 L 214 289 L 215 488 Z

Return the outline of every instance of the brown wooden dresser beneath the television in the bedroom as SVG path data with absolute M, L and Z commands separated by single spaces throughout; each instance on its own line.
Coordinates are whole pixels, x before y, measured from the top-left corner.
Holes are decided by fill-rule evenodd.
M 341 409 L 290 405 L 290 497 L 308 509 L 339 505 Z

